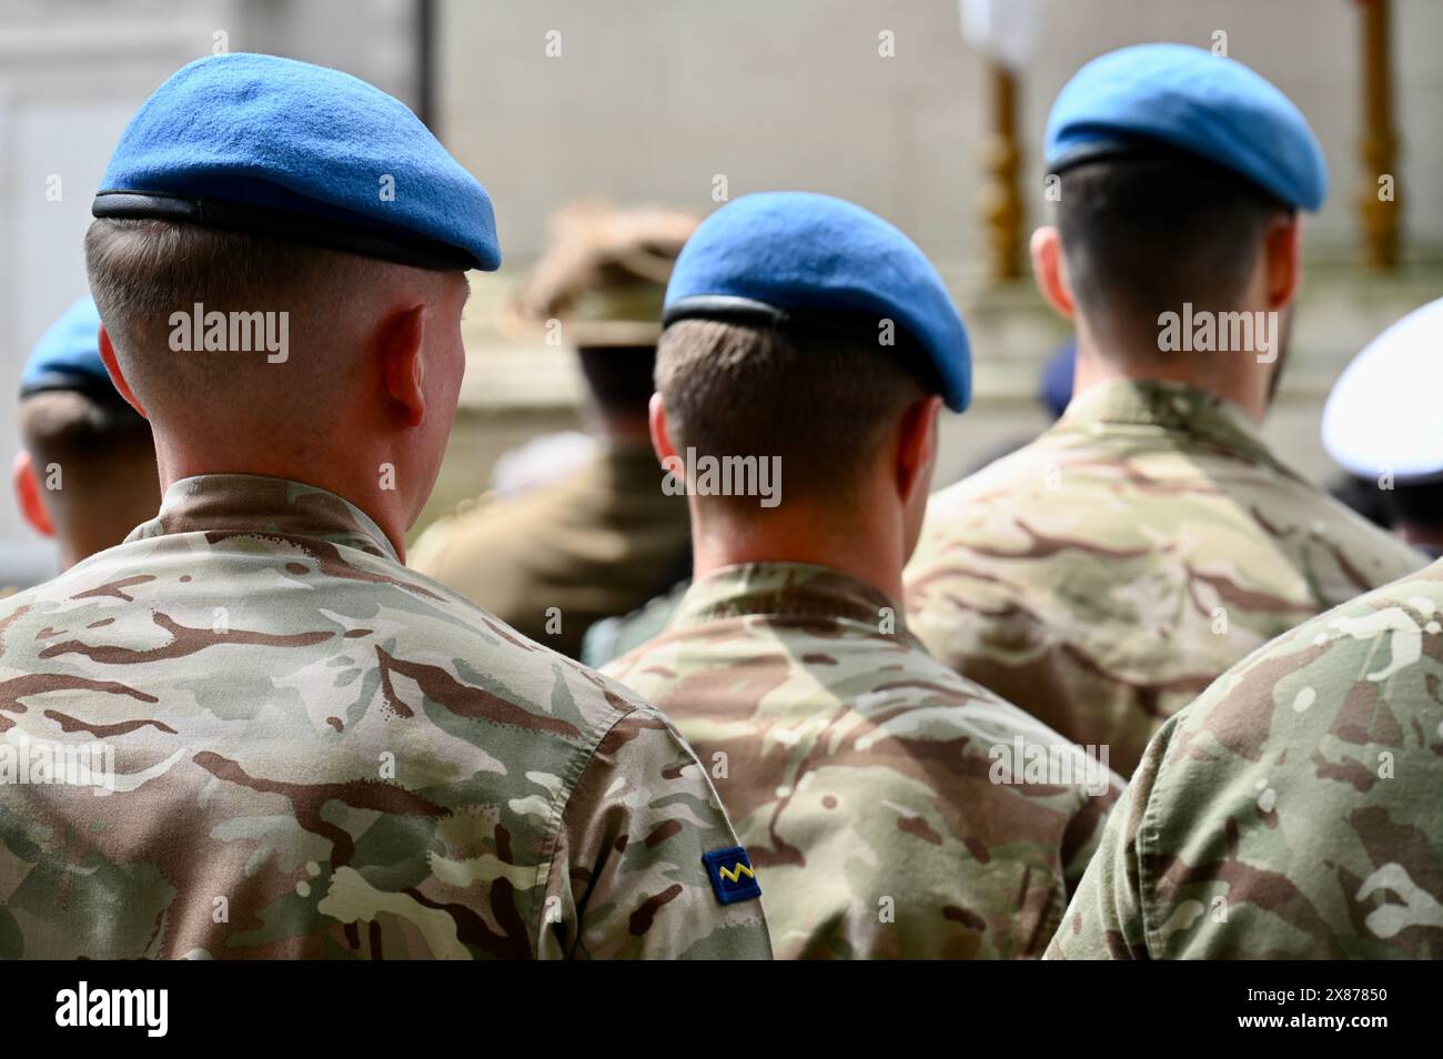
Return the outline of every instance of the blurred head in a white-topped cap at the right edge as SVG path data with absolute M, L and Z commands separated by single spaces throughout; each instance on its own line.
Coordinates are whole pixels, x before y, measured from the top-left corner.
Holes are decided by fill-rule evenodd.
M 1323 447 L 1356 505 L 1443 557 L 1443 299 L 1394 323 L 1348 365 L 1323 408 Z

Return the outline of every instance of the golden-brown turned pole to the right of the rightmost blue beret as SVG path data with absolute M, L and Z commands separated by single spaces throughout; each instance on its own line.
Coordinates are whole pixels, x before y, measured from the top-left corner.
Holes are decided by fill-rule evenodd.
M 1358 147 L 1362 176 L 1358 209 L 1364 234 L 1364 261 L 1369 268 L 1398 264 L 1398 203 L 1394 163 L 1398 141 L 1392 131 L 1392 55 L 1388 0 L 1362 3 L 1362 110 Z

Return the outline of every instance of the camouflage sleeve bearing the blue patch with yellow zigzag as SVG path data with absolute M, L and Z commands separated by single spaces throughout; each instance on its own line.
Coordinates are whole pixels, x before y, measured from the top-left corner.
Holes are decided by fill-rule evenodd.
M 654 710 L 629 711 L 563 812 L 541 955 L 771 959 L 760 900 L 720 903 L 703 863 L 737 845 L 691 747 Z

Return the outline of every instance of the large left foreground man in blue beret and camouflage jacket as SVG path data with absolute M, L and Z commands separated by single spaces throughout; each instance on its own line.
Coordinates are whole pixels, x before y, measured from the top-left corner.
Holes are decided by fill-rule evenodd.
M 400 561 L 485 189 L 377 88 L 221 55 L 92 212 L 165 495 L 0 605 L 0 958 L 765 958 L 661 714 Z

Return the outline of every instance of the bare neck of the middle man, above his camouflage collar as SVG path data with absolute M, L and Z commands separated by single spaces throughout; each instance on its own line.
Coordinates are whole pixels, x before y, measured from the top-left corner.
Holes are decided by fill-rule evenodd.
M 785 506 L 739 515 L 716 501 L 691 498 L 693 574 L 697 580 L 740 563 L 812 563 L 870 584 L 890 600 L 902 599 L 902 518 L 882 505 L 859 505 L 838 517 L 820 505 Z

